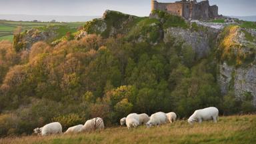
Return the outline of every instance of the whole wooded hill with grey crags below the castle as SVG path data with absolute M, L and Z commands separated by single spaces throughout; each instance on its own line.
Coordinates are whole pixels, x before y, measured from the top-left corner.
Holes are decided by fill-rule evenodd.
M 105 11 L 78 31 L 17 33 L 0 42 L 0 137 L 52 121 L 65 131 L 92 117 L 112 127 L 129 113 L 255 113 L 255 27 Z

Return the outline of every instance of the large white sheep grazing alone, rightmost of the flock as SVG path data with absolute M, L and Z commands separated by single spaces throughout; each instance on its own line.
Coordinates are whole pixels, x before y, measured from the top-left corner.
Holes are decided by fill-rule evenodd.
M 219 110 L 216 107 L 207 107 L 205 109 L 196 110 L 193 115 L 187 119 L 187 121 L 192 124 L 193 122 L 201 123 L 202 121 L 213 120 L 214 123 L 217 123 Z

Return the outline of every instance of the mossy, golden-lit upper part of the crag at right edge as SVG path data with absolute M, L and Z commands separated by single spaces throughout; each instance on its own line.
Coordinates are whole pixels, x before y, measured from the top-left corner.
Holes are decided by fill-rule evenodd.
M 239 25 L 229 25 L 219 35 L 217 59 L 237 67 L 249 65 L 255 63 L 255 47 L 255 37 L 247 29 Z

